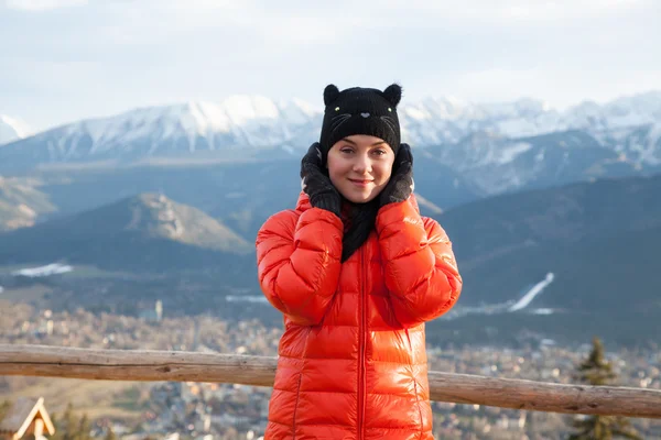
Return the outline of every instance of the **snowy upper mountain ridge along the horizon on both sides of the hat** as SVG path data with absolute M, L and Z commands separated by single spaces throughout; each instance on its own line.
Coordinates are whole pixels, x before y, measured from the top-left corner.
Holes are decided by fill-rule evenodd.
M 219 103 L 189 101 L 142 107 L 42 131 L 6 144 L 2 154 L 7 158 L 18 157 L 19 151 L 28 150 L 32 161 L 42 163 L 91 156 L 133 161 L 154 154 L 223 150 L 237 154 L 277 148 L 285 154 L 300 152 L 316 140 L 322 111 L 300 99 L 275 102 L 262 96 L 231 96 Z M 628 145 L 626 138 L 636 129 L 647 128 L 642 141 L 651 147 L 633 160 L 639 164 L 661 164 L 661 92 L 658 91 L 604 105 L 584 101 L 564 111 L 533 99 L 480 105 L 429 98 L 400 106 L 400 120 L 402 138 L 419 147 L 456 144 L 476 132 L 519 139 L 582 130 L 605 147 L 633 154 L 641 145 Z

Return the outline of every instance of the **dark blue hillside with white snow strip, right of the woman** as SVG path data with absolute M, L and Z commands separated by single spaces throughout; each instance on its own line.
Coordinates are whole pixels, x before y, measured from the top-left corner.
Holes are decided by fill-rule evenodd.
M 474 341 L 511 339 L 522 329 L 625 343 L 661 338 L 660 190 L 661 176 L 597 180 L 438 216 L 464 293 L 430 332 Z

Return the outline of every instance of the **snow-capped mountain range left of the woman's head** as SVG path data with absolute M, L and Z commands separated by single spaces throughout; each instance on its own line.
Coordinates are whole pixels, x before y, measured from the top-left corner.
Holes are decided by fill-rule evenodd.
M 315 116 L 305 102 L 275 103 L 260 96 L 224 102 L 141 108 L 58 127 L 14 142 L 4 151 L 15 165 L 180 157 L 202 152 L 286 148 L 311 139 Z

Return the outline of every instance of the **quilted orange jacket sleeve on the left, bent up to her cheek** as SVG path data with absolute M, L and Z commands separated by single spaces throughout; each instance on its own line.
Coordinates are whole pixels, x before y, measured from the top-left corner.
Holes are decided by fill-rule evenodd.
M 282 211 L 257 234 L 258 278 L 273 307 L 301 326 L 319 323 L 337 289 L 343 223 L 311 208 Z

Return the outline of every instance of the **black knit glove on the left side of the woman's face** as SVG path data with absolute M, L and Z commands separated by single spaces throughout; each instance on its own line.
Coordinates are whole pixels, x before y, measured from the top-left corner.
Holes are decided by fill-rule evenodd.
M 310 145 L 307 154 L 301 160 L 303 191 L 310 196 L 310 205 L 325 209 L 339 217 L 342 198 L 322 167 L 322 153 L 318 142 Z

